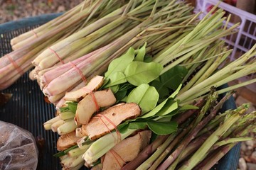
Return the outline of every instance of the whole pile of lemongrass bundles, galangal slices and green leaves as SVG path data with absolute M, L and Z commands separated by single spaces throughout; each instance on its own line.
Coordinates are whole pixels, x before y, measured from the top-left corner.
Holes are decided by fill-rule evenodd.
M 256 45 L 230 62 L 221 38 L 239 24 L 218 6 L 200 14 L 174 0 L 85 1 L 11 41 L 0 87 L 35 66 L 63 169 L 210 169 L 256 130 L 247 104 L 219 111 L 256 79 L 218 89 L 256 72 Z

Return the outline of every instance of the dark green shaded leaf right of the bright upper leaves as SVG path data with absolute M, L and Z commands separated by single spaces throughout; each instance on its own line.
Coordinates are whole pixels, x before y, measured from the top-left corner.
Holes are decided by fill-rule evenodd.
M 161 84 L 162 86 L 166 86 L 169 89 L 175 90 L 181 84 L 183 78 L 186 77 L 187 73 L 188 70 L 186 67 L 176 65 L 161 75 Z

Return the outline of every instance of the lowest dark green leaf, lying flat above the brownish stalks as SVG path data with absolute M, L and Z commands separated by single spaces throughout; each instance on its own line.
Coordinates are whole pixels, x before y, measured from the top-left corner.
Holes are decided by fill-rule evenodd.
M 177 123 L 171 122 L 156 122 L 149 121 L 147 123 L 150 130 L 152 130 L 157 135 L 168 135 L 177 130 Z

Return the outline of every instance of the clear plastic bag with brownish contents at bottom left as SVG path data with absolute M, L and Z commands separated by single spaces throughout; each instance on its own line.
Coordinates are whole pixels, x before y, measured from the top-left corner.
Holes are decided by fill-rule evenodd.
M 27 130 L 0 121 L 0 169 L 36 169 L 38 149 Z

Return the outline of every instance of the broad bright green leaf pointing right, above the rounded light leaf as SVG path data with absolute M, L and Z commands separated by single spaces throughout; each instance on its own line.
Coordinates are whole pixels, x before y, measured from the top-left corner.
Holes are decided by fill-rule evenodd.
M 149 84 L 159 77 L 163 66 L 156 62 L 131 62 L 124 71 L 127 81 L 134 86 Z

